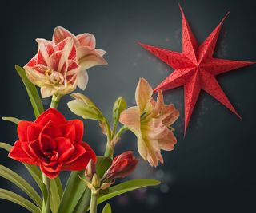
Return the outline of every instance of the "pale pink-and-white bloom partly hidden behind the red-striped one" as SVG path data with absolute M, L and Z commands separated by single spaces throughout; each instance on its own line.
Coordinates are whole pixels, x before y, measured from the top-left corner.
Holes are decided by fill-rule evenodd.
M 67 37 L 73 38 L 74 45 L 77 49 L 78 65 L 82 67 L 81 71 L 78 73 L 78 87 L 84 90 L 88 82 L 86 69 L 96 65 L 108 65 L 103 58 L 106 51 L 103 49 L 95 49 L 96 39 L 93 34 L 85 33 L 75 36 L 62 26 L 55 27 L 52 42 L 54 45 L 58 45 L 58 43 L 65 40 Z M 38 38 L 36 41 L 40 44 L 45 40 Z

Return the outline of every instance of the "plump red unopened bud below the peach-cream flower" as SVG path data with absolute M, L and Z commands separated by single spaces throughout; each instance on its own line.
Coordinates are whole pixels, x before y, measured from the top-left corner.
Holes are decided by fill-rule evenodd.
M 110 179 L 124 178 L 134 172 L 137 167 L 138 160 L 134 157 L 133 152 L 127 151 L 119 156 L 116 156 L 110 166 L 102 177 L 102 182 Z

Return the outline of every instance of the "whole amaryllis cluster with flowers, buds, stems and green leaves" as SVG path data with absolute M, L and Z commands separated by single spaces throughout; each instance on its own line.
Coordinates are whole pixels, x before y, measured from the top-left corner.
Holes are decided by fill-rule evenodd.
M 10 168 L 0 165 L 0 176 L 14 183 L 27 195 L 22 197 L 0 188 L 0 198 L 7 199 L 34 213 L 90 213 L 97 212 L 98 204 L 141 187 L 158 185 L 155 179 L 131 179 L 116 184 L 115 179 L 129 176 L 137 167 L 138 158 L 131 151 L 116 156 L 114 149 L 122 132 L 131 131 L 138 140 L 138 153 L 151 166 L 164 162 L 161 150 L 171 151 L 176 144 L 174 128 L 179 116 L 174 105 L 166 105 L 162 92 L 157 100 L 152 97 L 149 83 L 140 78 L 135 91 L 136 105 L 127 108 L 123 97 L 113 105 L 112 121 L 82 93 L 74 89 L 86 89 L 86 69 L 95 65 L 107 65 L 106 53 L 95 49 L 93 34 L 75 36 L 63 27 L 56 27 L 51 41 L 38 38 L 38 53 L 22 68 L 15 66 L 22 78 L 34 109 L 35 120 L 2 117 L 17 124 L 17 140 L 13 145 L 0 143 L 12 160 L 22 162 L 37 183 L 41 193 Z M 52 97 L 48 109 L 44 109 L 41 96 Z M 61 97 L 71 94 L 74 100 L 67 103 L 71 112 L 84 120 L 98 120 L 106 135 L 105 153 L 97 153 L 84 141 L 82 120 L 66 120 L 58 111 Z M 97 141 L 97 143 L 101 143 Z M 127 148 L 130 144 L 126 143 Z M 59 177 L 63 170 L 71 171 L 66 186 Z M 106 204 L 102 212 L 111 212 Z

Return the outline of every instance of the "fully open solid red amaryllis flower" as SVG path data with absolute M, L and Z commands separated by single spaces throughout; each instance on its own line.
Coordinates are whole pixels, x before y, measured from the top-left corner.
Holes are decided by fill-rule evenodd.
M 18 123 L 18 138 L 9 157 L 26 164 L 34 164 L 50 179 L 62 170 L 85 169 L 96 155 L 82 142 L 81 120 L 66 120 L 54 108 L 43 112 L 34 122 Z

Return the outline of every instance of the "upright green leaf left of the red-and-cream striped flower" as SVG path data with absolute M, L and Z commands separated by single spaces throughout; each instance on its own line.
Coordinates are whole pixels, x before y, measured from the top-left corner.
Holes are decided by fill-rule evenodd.
M 41 98 L 39 97 L 38 90 L 35 85 L 33 85 L 30 80 L 26 77 L 25 70 L 19 65 L 15 65 L 15 69 L 18 75 L 22 78 L 23 84 L 26 87 L 26 92 L 30 97 L 30 102 L 34 110 L 34 115 L 38 117 L 43 111 Z

